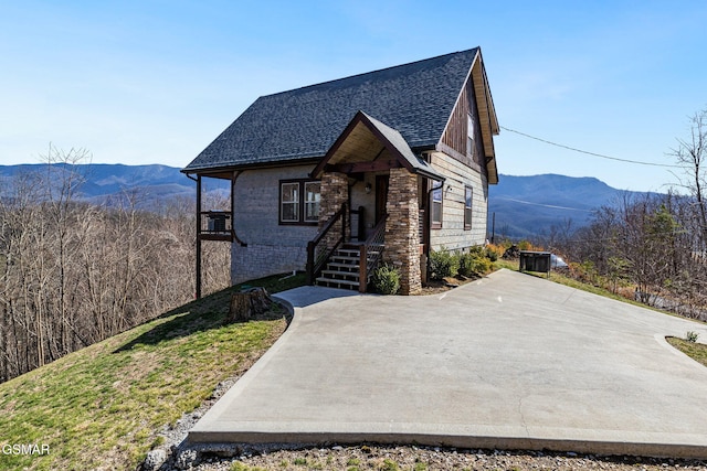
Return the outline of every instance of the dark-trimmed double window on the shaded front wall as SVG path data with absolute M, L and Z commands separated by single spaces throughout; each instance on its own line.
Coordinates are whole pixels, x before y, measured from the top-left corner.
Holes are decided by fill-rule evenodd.
M 279 224 L 315 225 L 319 222 L 320 182 L 279 181 Z

